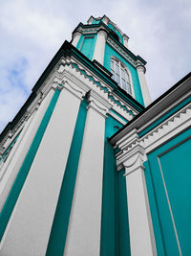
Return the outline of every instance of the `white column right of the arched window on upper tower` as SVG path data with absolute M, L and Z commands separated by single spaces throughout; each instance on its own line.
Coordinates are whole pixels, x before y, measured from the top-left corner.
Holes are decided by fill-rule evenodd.
M 151 101 L 151 96 L 150 96 L 149 89 L 148 89 L 145 75 L 144 75 L 145 67 L 142 65 L 138 65 L 137 70 L 138 70 L 138 79 L 141 87 L 144 104 L 145 106 L 147 106 L 147 105 L 150 105 L 152 101 Z

